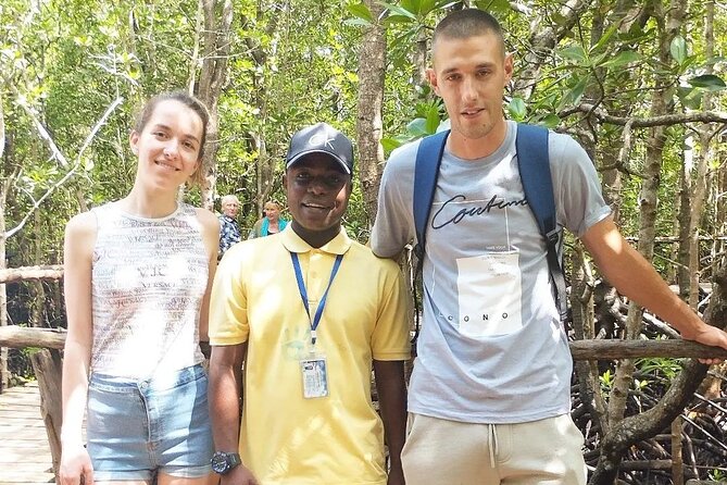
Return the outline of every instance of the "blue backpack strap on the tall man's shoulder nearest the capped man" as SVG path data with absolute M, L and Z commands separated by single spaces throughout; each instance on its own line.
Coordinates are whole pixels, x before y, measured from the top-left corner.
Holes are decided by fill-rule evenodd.
M 424 246 L 426 241 L 427 221 L 435 199 L 439 165 L 444 153 L 444 145 L 450 130 L 439 132 L 422 138 L 416 151 L 414 166 L 414 228 L 416 231 L 416 246 L 414 253 L 424 261 Z

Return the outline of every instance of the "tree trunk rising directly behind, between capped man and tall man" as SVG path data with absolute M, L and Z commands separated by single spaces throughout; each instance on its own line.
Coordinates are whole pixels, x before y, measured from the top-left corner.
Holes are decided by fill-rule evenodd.
M 363 190 L 367 227 L 376 217 L 378 186 L 384 166 L 381 147 L 381 107 L 384 104 L 384 75 L 386 69 L 386 30 L 378 18 L 384 7 L 376 0 L 364 0 L 375 18 L 366 27 L 359 50 L 359 119 L 356 141 L 359 146 L 359 174 Z

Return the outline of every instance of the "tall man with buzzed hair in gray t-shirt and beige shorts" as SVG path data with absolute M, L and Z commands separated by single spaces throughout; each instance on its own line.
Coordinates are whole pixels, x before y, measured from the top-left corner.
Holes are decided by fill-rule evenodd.
M 518 174 L 517 125 L 502 115 L 512 55 L 497 21 L 472 9 L 439 23 L 433 64 L 429 82 L 452 132 L 427 222 L 406 483 L 585 484 L 582 435 L 568 415 L 567 339 Z M 384 171 L 371 239 L 380 257 L 414 238 L 417 148 L 396 150 Z M 727 348 L 727 334 L 702 322 L 624 240 L 584 149 L 551 133 L 549 156 L 559 226 L 582 240 L 604 276 L 684 338 Z

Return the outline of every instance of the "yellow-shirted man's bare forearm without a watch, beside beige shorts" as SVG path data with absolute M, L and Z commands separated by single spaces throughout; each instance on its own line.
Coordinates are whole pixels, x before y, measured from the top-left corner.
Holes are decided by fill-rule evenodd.
M 374 360 L 378 405 L 384 421 L 384 434 L 389 447 L 388 485 L 403 485 L 401 470 L 401 449 L 406 439 L 406 384 L 404 382 L 404 362 L 401 360 Z

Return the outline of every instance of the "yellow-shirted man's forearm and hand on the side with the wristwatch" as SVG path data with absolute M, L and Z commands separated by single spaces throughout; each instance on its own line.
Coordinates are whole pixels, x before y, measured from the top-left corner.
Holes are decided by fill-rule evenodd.
M 247 343 L 212 346 L 210 358 L 210 419 L 216 451 L 239 452 L 240 382 Z M 222 476 L 221 484 L 258 485 L 243 464 Z

